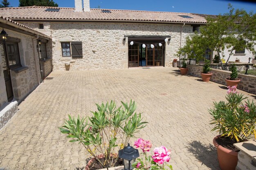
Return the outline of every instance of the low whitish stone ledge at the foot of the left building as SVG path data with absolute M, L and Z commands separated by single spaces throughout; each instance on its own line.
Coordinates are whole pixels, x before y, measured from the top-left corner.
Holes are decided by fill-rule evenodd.
M 2 106 L 0 111 L 0 130 L 4 127 L 5 124 L 13 117 L 13 115 L 18 111 L 18 102 L 13 101 L 8 105 Z

